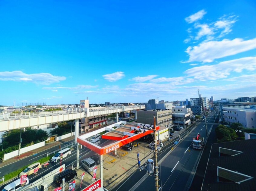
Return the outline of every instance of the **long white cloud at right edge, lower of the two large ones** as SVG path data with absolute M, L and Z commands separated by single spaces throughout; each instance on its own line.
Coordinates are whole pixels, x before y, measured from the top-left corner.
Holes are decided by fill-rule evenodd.
M 231 72 L 241 73 L 243 70 L 256 70 L 256 57 L 245 57 L 220 62 L 215 65 L 204 65 L 186 70 L 187 77 L 207 81 L 227 78 Z

